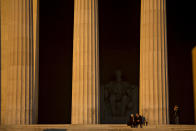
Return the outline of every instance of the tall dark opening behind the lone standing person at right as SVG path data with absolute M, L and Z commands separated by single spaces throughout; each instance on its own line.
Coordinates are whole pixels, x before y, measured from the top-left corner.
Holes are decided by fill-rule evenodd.
M 170 122 L 180 106 L 180 124 L 194 124 L 192 48 L 195 41 L 194 4 L 167 0 Z M 184 8 L 182 10 L 182 8 Z

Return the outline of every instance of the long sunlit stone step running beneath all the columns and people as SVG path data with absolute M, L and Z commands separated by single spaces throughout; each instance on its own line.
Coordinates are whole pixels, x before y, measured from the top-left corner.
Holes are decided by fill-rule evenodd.
M 131 128 L 122 124 L 1 125 L 0 131 L 196 131 L 196 125 L 150 125 L 143 128 Z

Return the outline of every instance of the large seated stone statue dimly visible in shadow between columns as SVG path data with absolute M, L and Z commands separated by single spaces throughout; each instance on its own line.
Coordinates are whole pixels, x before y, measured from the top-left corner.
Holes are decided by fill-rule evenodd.
M 137 112 L 137 86 L 122 80 L 122 72 L 115 72 L 115 80 L 103 86 L 105 117 L 126 117 Z

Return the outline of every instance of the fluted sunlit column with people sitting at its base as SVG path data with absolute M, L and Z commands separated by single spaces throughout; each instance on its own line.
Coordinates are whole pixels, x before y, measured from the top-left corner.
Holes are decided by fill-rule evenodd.
M 140 114 L 168 124 L 166 0 L 141 0 Z

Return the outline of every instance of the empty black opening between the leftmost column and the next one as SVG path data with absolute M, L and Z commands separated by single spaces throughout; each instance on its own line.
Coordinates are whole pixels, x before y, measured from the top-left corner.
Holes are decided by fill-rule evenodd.
M 73 0 L 40 1 L 39 38 L 39 124 L 70 124 Z

